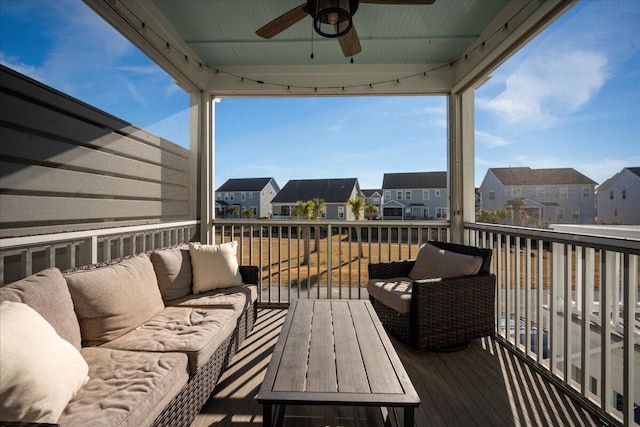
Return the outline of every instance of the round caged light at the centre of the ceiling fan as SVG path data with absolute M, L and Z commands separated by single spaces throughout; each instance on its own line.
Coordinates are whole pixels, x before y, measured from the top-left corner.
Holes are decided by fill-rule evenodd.
M 336 38 L 347 34 L 353 26 L 355 8 L 352 0 L 316 0 L 311 10 L 313 28 L 322 37 Z M 357 6 L 356 6 L 357 7 Z

